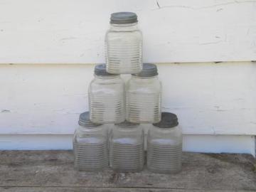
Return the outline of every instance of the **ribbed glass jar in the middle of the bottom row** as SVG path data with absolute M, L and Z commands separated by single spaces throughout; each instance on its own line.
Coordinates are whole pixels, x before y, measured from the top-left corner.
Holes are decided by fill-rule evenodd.
M 139 124 L 115 124 L 110 132 L 110 167 L 119 172 L 142 171 L 144 132 Z

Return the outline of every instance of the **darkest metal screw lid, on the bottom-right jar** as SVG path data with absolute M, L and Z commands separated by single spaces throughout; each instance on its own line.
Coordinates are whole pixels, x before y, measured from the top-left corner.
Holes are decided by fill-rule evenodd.
M 178 117 L 176 114 L 171 112 L 162 112 L 161 121 L 153 124 L 159 128 L 172 128 L 178 126 Z

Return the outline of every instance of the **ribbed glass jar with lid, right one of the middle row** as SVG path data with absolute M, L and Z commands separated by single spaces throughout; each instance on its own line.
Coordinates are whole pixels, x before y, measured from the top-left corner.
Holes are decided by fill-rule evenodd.
M 161 120 L 161 82 L 156 65 L 144 63 L 141 73 L 132 74 L 126 85 L 126 119 L 136 123 Z

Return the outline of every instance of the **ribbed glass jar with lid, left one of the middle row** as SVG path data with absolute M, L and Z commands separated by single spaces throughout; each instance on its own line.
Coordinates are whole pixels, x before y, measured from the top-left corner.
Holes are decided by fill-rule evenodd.
M 124 81 L 107 73 L 106 65 L 95 66 L 89 87 L 90 120 L 94 123 L 119 123 L 125 119 Z

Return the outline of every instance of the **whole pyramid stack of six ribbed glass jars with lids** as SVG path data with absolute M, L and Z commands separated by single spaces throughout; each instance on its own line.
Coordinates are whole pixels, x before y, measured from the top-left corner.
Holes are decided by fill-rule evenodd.
M 102 171 L 110 164 L 114 171 L 142 171 L 144 130 L 140 124 L 143 123 L 149 128 L 149 170 L 164 174 L 178 172 L 181 129 L 175 114 L 161 113 L 161 82 L 156 65 L 142 63 L 142 33 L 136 14 L 111 15 L 105 55 L 107 64 L 95 66 L 95 78 L 90 82 L 90 112 L 80 115 L 80 127 L 75 131 L 75 167 Z M 127 73 L 132 78 L 125 85 L 120 75 Z

